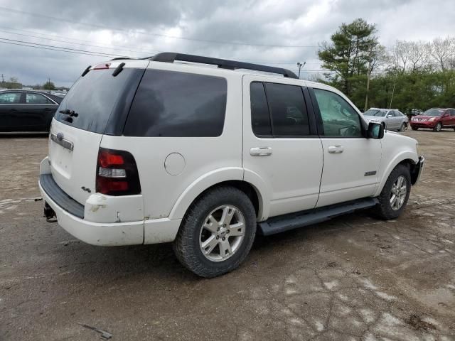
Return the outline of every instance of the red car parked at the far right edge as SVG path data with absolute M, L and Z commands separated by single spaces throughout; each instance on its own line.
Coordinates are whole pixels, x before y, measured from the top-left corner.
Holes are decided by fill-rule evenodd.
M 410 124 L 412 130 L 419 128 L 433 129 L 434 131 L 441 131 L 443 128 L 455 130 L 455 109 L 428 109 L 422 115 L 412 117 Z

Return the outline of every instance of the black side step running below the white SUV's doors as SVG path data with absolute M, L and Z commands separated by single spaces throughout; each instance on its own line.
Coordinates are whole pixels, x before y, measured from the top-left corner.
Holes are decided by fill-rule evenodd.
M 258 222 L 259 232 L 264 236 L 276 234 L 279 232 L 296 229 L 299 227 L 325 222 L 338 215 L 362 210 L 363 208 L 373 207 L 378 204 L 379 200 L 376 197 L 366 197 L 364 199 L 343 202 L 342 204 L 330 205 L 327 207 L 316 208 L 314 210 L 306 210 L 289 215 L 279 215 L 272 217 L 265 222 Z

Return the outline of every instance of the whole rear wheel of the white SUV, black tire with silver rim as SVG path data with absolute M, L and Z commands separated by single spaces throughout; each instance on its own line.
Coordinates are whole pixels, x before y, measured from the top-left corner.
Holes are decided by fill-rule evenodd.
M 223 216 L 231 218 L 223 220 Z M 242 220 L 243 225 L 239 225 Z M 243 230 L 237 226 L 243 226 Z M 237 188 L 223 186 L 209 190 L 191 205 L 183 217 L 173 250 L 186 269 L 210 278 L 240 266 L 250 252 L 255 234 L 256 211 L 250 198 Z M 207 246 L 203 252 L 204 243 Z

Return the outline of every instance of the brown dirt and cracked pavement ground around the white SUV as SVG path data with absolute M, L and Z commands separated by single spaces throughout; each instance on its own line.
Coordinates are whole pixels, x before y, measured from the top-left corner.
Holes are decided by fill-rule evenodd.
M 405 214 L 258 237 L 201 279 L 170 244 L 92 247 L 42 217 L 46 136 L 0 136 L 0 340 L 455 340 L 455 131 L 407 131 L 427 158 Z

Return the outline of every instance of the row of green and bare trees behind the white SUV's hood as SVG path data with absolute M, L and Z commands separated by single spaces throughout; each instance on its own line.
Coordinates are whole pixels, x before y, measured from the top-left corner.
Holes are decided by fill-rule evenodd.
M 320 43 L 316 80 L 338 88 L 357 107 L 412 109 L 455 107 L 455 37 L 379 43 L 378 30 L 362 18 L 342 23 Z

